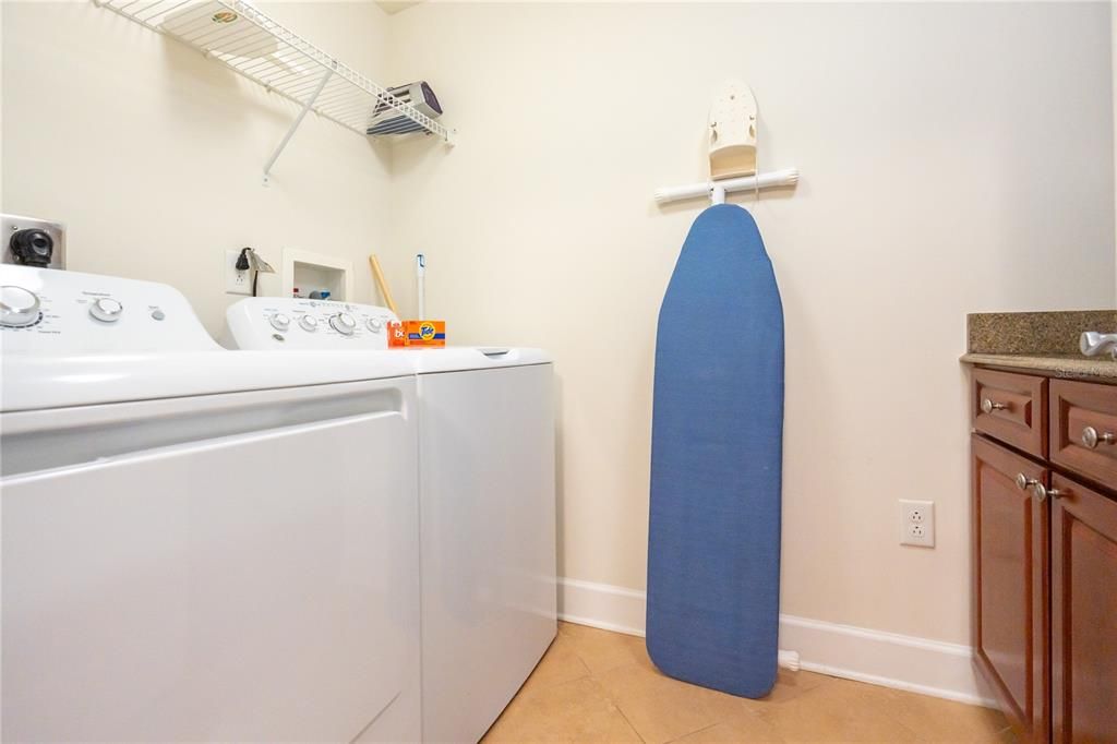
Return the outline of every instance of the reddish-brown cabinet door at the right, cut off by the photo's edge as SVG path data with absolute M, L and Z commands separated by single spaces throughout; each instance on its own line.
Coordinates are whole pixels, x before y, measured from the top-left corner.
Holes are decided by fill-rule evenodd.
M 1054 476 L 1051 673 L 1056 742 L 1117 742 L 1117 502 Z

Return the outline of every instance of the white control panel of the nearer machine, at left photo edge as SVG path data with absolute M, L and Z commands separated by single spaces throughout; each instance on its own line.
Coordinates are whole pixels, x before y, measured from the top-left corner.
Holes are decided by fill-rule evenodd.
M 10 264 L 0 264 L 0 345 L 4 353 L 219 349 L 165 284 Z

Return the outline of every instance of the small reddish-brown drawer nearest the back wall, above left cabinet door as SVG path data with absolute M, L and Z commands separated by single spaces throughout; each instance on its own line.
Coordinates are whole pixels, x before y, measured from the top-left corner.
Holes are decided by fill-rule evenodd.
M 1046 378 L 974 370 L 970 410 L 974 429 L 1037 457 L 1047 456 Z

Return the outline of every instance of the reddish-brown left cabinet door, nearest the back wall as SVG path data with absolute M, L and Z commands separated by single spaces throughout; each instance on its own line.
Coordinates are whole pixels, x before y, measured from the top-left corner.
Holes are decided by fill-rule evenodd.
M 1016 732 L 1047 742 L 1049 512 L 1028 484 L 1048 470 L 974 435 L 972 477 L 974 657 Z

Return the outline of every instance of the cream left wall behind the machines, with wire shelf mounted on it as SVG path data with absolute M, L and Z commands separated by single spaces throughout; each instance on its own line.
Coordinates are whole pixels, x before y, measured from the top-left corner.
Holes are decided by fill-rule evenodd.
M 70 269 L 166 282 L 219 332 L 226 248 L 352 258 L 383 245 L 390 149 L 308 116 L 264 163 L 296 106 L 92 2 L 0 2 L 3 210 L 67 223 Z M 386 15 L 373 2 L 260 6 L 381 77 Z M 278 289 L 261 277 L 260 293 Z

